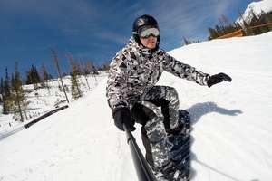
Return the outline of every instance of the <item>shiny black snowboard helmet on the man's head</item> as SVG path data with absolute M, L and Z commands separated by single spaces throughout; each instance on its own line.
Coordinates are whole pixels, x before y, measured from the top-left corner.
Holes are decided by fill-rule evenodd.
M 140 17 L 136 18 L 136 20 L 133 23 L 132 34 L 133 34 L 133 38 L 135 39 L 135 41 L 139 44 L 141 44 L 141 41 L 140 41 L 140 38 L 138 35 L 138 30 L 141 27 L 146 27 L 146 26 L 152 27 L 152 28 L 157 28 L 158 30 L 160 30 L 158 22 L 151 15 L 144 14 L 144 15 L 141 15 Z M 160 43 L 160 36 L 158 37 L 158 40 L 157 40 L 157 47 L 159 46 L 159 43 Z

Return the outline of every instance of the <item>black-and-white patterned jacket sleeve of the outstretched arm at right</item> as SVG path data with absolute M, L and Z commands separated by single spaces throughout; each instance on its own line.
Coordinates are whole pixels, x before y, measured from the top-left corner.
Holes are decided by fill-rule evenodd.
M 162 64 L 164 71 L 168 71 L 182 79 L 194 81 L 200 85 L 207 85 L 207 81 L 209 79 L 208 73 L 197 71 L 194 67 L 191 67 L 188 64 L 177 61 L 167 52 L 164 52 Z

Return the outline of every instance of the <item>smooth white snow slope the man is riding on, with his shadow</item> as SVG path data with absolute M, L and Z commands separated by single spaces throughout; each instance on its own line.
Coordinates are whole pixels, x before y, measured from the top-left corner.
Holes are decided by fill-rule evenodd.
M 190 44 L 170 52 L 181 62 L 232 82 L 211 88 L 164 72 L 158 84 L 175 87 L 194 130 L 197 181 L 272 178 L 272 32 Z M 114 127 L 106 77 L 68 109 L 0 140 L 0 180 L 136 181 L 130 148 Z M 133 132 L 141 145 L 140 125 Z

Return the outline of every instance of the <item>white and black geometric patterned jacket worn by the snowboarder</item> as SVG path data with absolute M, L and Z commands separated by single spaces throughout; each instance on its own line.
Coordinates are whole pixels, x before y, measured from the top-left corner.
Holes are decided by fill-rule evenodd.
M 162 71 L 200 85 L 207 85 L 209 79 L 209 74 L 177 61 L 160 48 L 143 48 L 133 38 L 117 52 L 110 67 L 106 96 L 112 109 L 137 101 L 159 81 Z

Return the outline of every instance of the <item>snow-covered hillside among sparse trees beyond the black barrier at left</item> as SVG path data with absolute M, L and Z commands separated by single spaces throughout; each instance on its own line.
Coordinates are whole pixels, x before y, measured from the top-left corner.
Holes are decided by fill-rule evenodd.
M 80 76 L 78 80 L 83 95 L 88 91 L 92 91 L 93 88 L 97 86 L 99 81 L 104 79 L 106 76 L 107 74 L 105 71 L 101 71 L 99 75 L 95 76 L 91 74 L 88 75 L 86 77 L 87 81 L 84 76 Z M 70 76 L 63 77 L 63 84 L 65 86 L 68 100 L 73 102 L 74 100 L 72 99 Z M 61 82 L 58 79 L 54 79 L 50 80 L 48 85 L 49 89 L 40 87 L 36 90 L 34 90 L 33 85 L 24 85 L 23 89 L 28 102 L 28 105 L 26 106 L 27 119 L 25 119 L 24 116 L 24 122 L 19 121 L 19 115 L 15 116 L 14 114 L 2 114 L 3 106 L 0 105 L 0 138 L 8 132 L 22 127 L 24 124 L 30 122 L 38 116 L 41 116 L 50 110 L 54 110 L 56 107 L 67 104 L 63 91 L 60 91 Z

